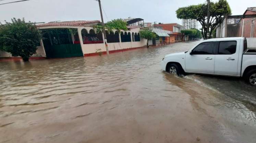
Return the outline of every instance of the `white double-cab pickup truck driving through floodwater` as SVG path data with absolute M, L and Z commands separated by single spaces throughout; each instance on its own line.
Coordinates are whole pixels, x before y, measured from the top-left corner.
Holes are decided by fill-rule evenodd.
M 256 45 L 247 48 L 243 37 L 207 39 L 190 51 L 166 55 L 161 66 L 172 74 L 244 77 L 246 82 L 256 85 Z

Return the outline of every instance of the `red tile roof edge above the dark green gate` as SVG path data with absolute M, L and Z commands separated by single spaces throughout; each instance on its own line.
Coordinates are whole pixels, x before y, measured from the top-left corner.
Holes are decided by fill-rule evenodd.
M 99 20 L 91 20 L 91 21 L 79 20 L 79 21 L 49 22 L 49 23 L 39 24 L 39 25 L 37 25 L 37 27 L 43 27 L 43 26 L 84 26 L 85 24 L 97 23 L 97 22 L 100 22 L 100 21 Z

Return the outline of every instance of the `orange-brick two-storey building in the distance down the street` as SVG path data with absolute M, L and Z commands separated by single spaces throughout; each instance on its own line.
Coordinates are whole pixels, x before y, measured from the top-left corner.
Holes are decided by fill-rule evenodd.
M 172 34 L 170 36 L 174 36 L 175 42 L 182 41 L 183 34 L 181 33 L 181 30 L 183 29 L 183 26 L 178 23 L 158 23 L 154 25 L 154 28 L 171 31 Z

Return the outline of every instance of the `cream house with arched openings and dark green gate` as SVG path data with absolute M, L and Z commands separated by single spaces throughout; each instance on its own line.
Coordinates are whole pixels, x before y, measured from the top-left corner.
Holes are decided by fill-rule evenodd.
M 49 22 L 37 25 L 42 31 L 38 50 L 33 57 L 66 58 L 106 53 L 104 35 L 96 31 L 93 21 Z M 144 47 L 146 40 L 139 36 L 139 26 L 127 26 L 128 30 L 107 32 L 109 52 Z M 0 57 L 12 57 L 10 53 L 0 51 Z

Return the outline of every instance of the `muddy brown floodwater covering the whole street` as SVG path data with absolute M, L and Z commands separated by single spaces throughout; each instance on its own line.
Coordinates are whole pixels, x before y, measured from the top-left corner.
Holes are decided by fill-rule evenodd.
M 256 142 L 240 79 L 162 72 L 196 42 L 102 57 L 0 63 L 0 142 Z

